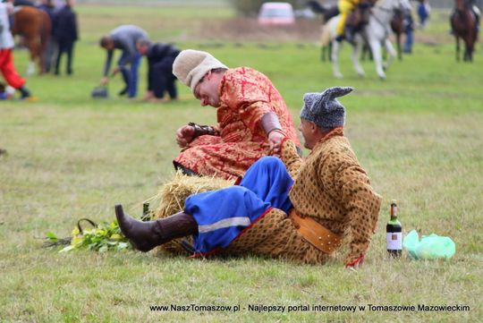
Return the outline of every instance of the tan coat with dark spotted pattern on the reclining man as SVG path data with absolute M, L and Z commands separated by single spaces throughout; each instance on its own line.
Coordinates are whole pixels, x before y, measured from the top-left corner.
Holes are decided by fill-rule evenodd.
M 290 199 L 297 212 L 335 234 L 351 234 L 346 264 L 364 255 L 376 229 L 381 198 L 370 186 L 343 129 L 328 133 L 305 161 L 295 145 L 285 140 L 282 160 L 295 180 Z M 226 250 L 246 251 L 312 264 L 323 264 L 330 256 L 302 238 L 279 209 L 270 211 Z

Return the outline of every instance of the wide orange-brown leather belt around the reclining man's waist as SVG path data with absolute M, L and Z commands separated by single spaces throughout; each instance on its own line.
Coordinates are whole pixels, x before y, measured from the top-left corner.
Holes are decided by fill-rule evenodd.
M 332 253 L 341 245 L 342 239 L 339 235 L 334 234 L 311 217 L 301 217 L 295 208 L 292 208 L 289 217 L 297 228 L 297 232 L 319 251 Z

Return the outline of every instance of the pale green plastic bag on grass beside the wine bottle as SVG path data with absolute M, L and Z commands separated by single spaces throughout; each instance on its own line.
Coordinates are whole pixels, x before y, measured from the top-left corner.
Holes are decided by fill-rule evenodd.
M 423 235 L 419 241 L 416 230 L 404 237 L 402 246 L 412 259 L 450 259 L 456 251 L 456 245 L 450 237 L 429 234 Z

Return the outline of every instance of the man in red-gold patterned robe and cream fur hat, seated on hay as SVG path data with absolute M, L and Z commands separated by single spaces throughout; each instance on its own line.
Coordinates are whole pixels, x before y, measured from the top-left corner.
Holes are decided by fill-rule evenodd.
M 182 152 L 174 159 L 176 169 L 230 179 L 276 152 L 285 136 L 300 145 L 284 99 L 261 72 L 228 69 L 206 52 L 187 49 L 176 57 L 173 73 L 201 106 L 216 107 L 217 119 L 215 126 L 189 123 L 178 129 Z

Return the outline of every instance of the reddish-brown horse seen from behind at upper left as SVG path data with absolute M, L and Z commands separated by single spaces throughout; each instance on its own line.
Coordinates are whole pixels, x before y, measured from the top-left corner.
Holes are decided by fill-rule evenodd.
M 30 64 L 27 74 L 35 71 L 35 60 L 38 59 L 38 73 L 45 72 L 42 53 L 50 37 L 52 22 L 48 14 L 31 6 L 19 6 L 13 13 L 13 35 L 20 35 L 30 51 Z

